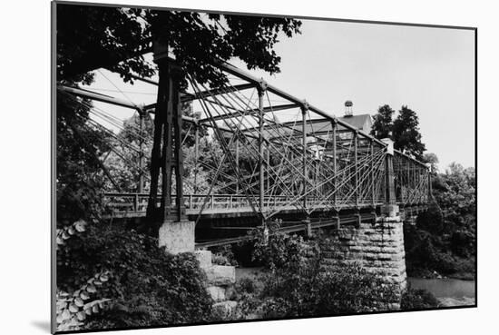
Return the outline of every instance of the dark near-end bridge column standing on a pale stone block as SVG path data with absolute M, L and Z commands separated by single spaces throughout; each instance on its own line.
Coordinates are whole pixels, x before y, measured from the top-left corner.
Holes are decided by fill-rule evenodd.
M 154 62 L 158 64 L 160 82 L 154 116 L 154 138 L 151 154 L 151 191 L 147 220 L 158 229 L 160 247 L 167 252 L 193 252 L 195 222 L 187 220 L 183 203 L 183 154 L 181 148 L 180 67 L 168 59 L 168 48 L 154 43 Z M 158 186 L 161 171 L 161 196 Z M 173 184 L 173 175 L 175 180 Z M 172 186 L 175 191 L 172 192 Z M 172 199 L 172 195 L 175 198 Z M 158 208 L 160 198 L 160 208 Z

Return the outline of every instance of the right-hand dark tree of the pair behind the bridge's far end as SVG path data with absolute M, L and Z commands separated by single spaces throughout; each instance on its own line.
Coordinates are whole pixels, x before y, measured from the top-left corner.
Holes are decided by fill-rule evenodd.
M 421 143 L 419 119 L 416 112 L 406 105 L 398 111 L 393 123 L 393 140 L 397 150 L 411 154 L 419 161 L 422 160 L 426 147 Z

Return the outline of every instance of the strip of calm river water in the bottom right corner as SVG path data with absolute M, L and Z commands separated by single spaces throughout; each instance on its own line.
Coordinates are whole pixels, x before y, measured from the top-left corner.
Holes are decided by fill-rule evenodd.
M 442 306 L 475 305 L 475 281 L 456 279 L 407 278 L 413 289 L 432 292 Z

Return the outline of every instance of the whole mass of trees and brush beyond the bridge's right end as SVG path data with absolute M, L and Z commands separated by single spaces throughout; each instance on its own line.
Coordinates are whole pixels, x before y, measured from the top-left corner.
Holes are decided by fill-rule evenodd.
M 389 106 L 379 107 L 371 134 L 391 137 L 396 149 L 432 166 L 435 203 L 418 215 L 416 226 L 405 226 L 407 274 L 415 277 L 475 278 L 475 169 L 452 163 L 437 171 L 435 153 L 425 153 L 416 112 L 402 106 L 395 120 Z

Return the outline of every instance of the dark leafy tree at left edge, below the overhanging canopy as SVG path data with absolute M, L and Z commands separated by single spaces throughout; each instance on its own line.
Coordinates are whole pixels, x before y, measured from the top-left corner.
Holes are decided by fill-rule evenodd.
M 93 220 L 102 212 L 98 190 L 103 186 L 99 157 L 109 150 L 105 133 L 91 130 L 88 101 L 57 94 L 56 197 L 57 226 Z

